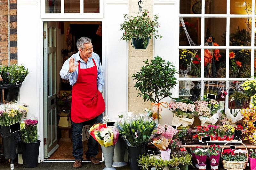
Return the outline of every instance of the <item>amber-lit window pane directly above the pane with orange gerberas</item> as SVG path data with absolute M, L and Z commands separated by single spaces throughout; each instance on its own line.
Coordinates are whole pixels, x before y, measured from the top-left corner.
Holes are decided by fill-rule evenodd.
M 230 18 L 230 46 L 251 46 L 251 34 L 251 18 Z

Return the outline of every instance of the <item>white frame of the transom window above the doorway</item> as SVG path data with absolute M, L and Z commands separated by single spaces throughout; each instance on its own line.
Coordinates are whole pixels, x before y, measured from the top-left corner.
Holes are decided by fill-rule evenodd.
M 45 0 L 41 0 L 41 18 L 103 18 L 103 5 L 100 0 L 100 13 L 84 13 L 84 0 L 80 0 L 80 13 L 64 13 L 64 0 L 61 0 L 61 13 L 45 13 Z

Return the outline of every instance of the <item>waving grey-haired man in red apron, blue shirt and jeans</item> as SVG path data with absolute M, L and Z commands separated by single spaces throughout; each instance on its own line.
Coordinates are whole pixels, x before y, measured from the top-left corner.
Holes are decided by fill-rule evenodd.
M 76 46 L 79 50 L 78 53 L 65 61 L 60 75 L 61 78 L 69 79 L 70 85 L 72 85 L 72 143 L 73 155 L 76 159 L 73 166 L 80 168 L 83 160 L 83 126 L 102 121 L 105 102 L 101 94 L 103 75 L 99 55 L 93 53 L 92 42 L 87 37 L 81 37 Z M 95 157 L 98 152 L 98 142 L 90 136 L 85 158 L 93 164 L 100 164 Z

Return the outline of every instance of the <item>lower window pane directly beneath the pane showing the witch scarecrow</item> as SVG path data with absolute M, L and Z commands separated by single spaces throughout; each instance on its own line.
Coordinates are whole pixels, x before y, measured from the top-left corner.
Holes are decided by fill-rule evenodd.
M 225 81 L 204 81 L 204 96 L 207 96 L 207 93 L 215 94 L 216 100 L 223 100 L 220 97 L 221 90 L 225 89 Z

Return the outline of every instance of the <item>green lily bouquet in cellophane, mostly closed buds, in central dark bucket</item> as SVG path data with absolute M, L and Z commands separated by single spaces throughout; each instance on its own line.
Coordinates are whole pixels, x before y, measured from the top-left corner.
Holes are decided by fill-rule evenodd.
M 129 146 L 148 144 L 155 136 L 158 120 L 148 116 L 124 117 L 115 123 L 116 129 Z

